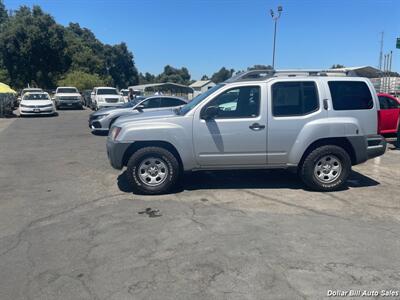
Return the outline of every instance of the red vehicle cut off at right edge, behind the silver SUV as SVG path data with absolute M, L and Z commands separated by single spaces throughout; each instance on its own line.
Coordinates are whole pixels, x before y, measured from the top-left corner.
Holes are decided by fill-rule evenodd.
M 381 109 L 378 111 L 378 132 L 383 136 L 396 134 L 400 130 L 400 100 L 389 94 L 379 93 Z

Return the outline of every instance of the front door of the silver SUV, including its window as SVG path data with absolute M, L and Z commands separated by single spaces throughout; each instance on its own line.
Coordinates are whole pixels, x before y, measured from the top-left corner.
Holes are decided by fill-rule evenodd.
M 225 89 L 201 108 L 193 118 L 196 159 L 207 166 L 266 165 L 267 130 L 263 85 Z M 218 107 L 218 115 L 205 120 L 207 107 Z

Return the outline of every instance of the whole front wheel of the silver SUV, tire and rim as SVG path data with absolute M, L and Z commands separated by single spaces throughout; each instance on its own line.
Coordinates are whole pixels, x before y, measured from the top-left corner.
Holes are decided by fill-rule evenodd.
M 148 195 L 166 193 L 179 177 L 179 163 L 164 148 L 145 147 L 129 159 L 127 177 L 135 191 Z

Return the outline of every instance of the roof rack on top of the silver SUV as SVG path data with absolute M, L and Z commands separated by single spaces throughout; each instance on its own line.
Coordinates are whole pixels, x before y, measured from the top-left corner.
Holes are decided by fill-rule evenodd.
M 251 81 L 251 80 L 266 80 L 272 77 L 297 77 L 297 76 L 357 76 L 351 70 L 318 70 L 318 69 L 293 69 L 293 70 L 251 70 L 239 73 L 225 82 Z

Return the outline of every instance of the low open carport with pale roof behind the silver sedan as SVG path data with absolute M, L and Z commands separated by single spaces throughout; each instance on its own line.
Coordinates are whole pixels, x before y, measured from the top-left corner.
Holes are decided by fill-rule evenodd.
M 149 83 L 130 86 L 129 89 L 139 91 L 141 95 L 154 95 L 160 93 L 162 95 L 177 96 L 186 99 L 192 99 L 194 90 L 183 84 L 165 82 L 165 83 Z

